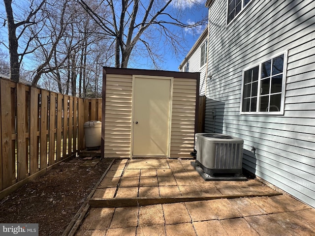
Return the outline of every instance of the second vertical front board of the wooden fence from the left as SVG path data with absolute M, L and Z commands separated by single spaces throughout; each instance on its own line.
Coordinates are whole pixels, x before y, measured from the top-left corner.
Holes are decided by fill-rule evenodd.
M 26 86 L 22 84 L 17 84 L 17 174 L 18 181 L 26 177 L 28 173 L 28 155 L 26 148 L 26 116 L 27 114 L 27 100 L 26 98 Z

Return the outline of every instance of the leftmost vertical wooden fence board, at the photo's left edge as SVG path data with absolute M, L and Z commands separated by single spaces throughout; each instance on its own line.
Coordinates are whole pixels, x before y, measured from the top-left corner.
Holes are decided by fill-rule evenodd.
M 12 126 L 10 82 L 1 80 L 1 145 L 2 145 L 2 186 L 12 184 Z

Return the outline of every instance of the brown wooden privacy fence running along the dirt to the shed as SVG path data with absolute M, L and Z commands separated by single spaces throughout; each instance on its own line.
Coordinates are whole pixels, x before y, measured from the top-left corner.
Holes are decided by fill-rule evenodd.
M 84 122 L 101 98 L 82 99 L 0 78 L 0 199 L 84 149 Z

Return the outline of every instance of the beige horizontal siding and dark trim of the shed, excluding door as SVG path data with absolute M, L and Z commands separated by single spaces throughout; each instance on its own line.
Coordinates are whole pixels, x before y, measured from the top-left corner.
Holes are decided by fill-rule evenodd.
M 132 157 L 133 75 L 172 77 L 169 158 L 191 158 L 199 73 L 104 67 L 102 146 L 104 157 Z

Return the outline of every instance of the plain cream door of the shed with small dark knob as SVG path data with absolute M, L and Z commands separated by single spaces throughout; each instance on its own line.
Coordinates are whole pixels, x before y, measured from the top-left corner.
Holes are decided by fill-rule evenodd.
M 132 156 L 167 156 L 171 79 L 135 78 Z

